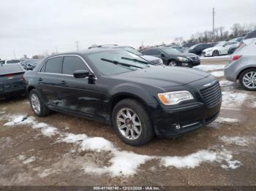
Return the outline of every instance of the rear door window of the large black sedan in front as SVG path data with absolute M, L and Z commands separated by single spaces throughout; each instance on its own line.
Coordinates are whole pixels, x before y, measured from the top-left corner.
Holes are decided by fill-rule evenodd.
M 45 63 L 45 72 L 60 74 L 62 58 L 63 58 L 62 56 L 59 56 L 56 58 L 49 58 L 48 61 L 46 61 Z M 43 68 L 44 67 L 42 67 L 41 71 L 43 71 Z

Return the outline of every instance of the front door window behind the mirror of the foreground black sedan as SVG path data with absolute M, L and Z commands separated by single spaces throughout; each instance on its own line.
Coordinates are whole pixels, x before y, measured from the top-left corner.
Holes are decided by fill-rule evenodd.
M 74 71 L 77 70 L 87 70 L 89 69 L 86 66 L 86 63 L 83 62 L 78 56 L 64 56 L 62 74 L 72 75 Z

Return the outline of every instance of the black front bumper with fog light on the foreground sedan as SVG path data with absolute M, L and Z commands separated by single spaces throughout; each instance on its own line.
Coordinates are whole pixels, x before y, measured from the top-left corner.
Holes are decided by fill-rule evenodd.
M 197 102 L 176 109 L 155 109 L 153 114 L 155 133 L 160 137 L 173 138 L 202 128 L 218 117 L 220 107 L 221 101 L 211 108 Z M 177 125 L 180 126 L 179 129 L 176 128 Z

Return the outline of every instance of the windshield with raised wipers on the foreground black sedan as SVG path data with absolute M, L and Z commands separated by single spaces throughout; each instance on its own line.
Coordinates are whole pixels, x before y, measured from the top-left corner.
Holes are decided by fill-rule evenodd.
M 93 52 L 86 55 L 103 75 L 121 74 L 150 66 L 144 59 L 126 50 Z

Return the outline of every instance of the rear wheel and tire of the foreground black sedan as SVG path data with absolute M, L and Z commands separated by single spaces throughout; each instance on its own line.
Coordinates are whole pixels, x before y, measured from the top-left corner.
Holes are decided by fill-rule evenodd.
M 38 90 L 33 89 L 29 93 L 29 102 L 31 109 L 37 117 L 45 117 L 50 113 L 50 110 L 42 99 L 41 93 Z

